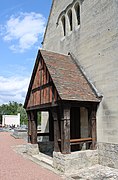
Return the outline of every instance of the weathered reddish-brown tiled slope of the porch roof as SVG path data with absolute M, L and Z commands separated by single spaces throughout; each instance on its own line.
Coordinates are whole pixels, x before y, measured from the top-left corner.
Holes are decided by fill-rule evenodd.
M 69 55 L 40 50 L 62 100 L 99 102 L 89 82 Z

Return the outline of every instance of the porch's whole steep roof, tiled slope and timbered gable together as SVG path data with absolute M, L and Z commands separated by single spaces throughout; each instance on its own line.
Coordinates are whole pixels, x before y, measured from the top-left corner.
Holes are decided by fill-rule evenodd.
M 40 50 L 25 107 L 56 106 L 59 101 L 99 102 L 90 83 L 70 55 Z

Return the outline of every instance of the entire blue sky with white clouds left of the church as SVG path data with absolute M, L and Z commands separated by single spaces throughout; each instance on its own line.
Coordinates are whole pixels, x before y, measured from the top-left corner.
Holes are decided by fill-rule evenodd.
M 24 103 L 52 0 L 0 4 L 0 105 Z

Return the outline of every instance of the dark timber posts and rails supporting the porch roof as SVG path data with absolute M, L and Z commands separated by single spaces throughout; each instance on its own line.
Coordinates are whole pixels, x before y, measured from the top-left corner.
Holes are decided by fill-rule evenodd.
M 28 142 L 37 144 L 38 136 L 49 136 L 49 141 L 54 141 L 54 151 L 56 152 L 71 153 L 71 151 L 78 151 L 82 149 L 83 144 L 85 149 L 96 149 L 96 110 L 96 105 L 93 105 L 91 110 L 89 109 L 88 135 L 86 137 L 81 137 L 80 123 L 77 126 L 76 119 L 71 119 L 70 107 L 65 106 L 63 109 L 61 108 L 61 111 L 56 107 L 49 111 L 51 115 L 49 116 L 48 133 L 37 131 L 37 111 L 28 111 Z M 75 124 L 76 128 L 73 129 L 72 123 Z M 73 132 L 76 132 L 76 135 Z

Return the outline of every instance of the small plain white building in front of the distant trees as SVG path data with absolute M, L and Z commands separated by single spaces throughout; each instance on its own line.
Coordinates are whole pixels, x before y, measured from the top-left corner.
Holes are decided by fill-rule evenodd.
M 3 126 L 20 126 L 20 113 L 17 115 L 2 115 L 2 127 Z

